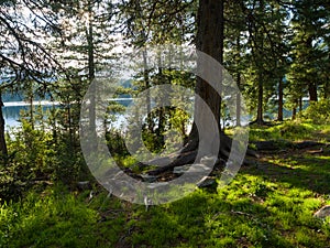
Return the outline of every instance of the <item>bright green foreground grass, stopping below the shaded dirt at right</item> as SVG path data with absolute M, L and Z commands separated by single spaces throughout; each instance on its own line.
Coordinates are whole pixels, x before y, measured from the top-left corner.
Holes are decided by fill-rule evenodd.
M 298 166 L 298 165 L 297 165 Z M 2 247 L 329 247 L 330 222 L 312 213 L 326 203 L 304 176 L 242 170 L 217 192 L 198 190 L 172 204 L 130 205 L 99 193 L 46 192 L 1 206 Z M 299 174 L 297 174 L 299 177 Z M 289 179 L 289 177 L 288 177 Z M 321 179 L 321 175 L 319 175 Z M 328 181 L 329 182 L 329 181 Z M 326 184 L 324 184 L 326 186 Z M 0 246 L 1 246 L 0 245 Z

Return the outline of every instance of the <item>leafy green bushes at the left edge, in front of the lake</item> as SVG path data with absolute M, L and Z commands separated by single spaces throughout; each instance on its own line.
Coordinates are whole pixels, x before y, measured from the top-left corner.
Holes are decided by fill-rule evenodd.
M 22 120 L 22 129 L 8 137 L 9 155 L 0 164 L 0 201 L 18 200 L 31 188 L 62 182 L 75 188 L 78 180 L 90 179 L 82 154 L 69 134 L 33 129 Z

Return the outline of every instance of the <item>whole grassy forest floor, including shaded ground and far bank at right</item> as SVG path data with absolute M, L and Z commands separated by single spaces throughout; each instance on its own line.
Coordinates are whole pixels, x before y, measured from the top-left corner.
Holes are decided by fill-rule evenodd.
M 0 247 L 330 248 L 330 217 L 314 217 L 330 204 L 330 125 L 287 121 L 250 134 L 277 147 L 226 187 L 198 188 L 146 211 L 97 185 L 92 197 L 48 186 L 0 205 Z M 323 144 L 293 145 L 307 140 Z

